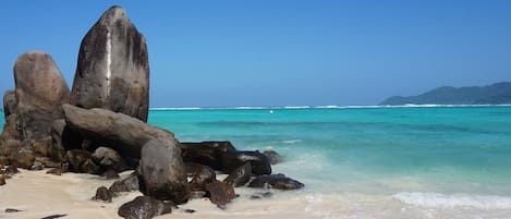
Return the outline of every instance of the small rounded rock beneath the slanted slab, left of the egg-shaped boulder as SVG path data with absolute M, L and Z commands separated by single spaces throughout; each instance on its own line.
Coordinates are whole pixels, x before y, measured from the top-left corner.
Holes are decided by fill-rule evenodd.
M 126 169 L 122 157 L 112 148 L 98 147 L 93 154 L 94 161 L 106 170 L 121 172 Z

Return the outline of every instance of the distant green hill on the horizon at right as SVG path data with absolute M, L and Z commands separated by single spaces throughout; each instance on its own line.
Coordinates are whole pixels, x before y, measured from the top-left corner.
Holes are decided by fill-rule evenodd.
M 488 86 L 438 87 L 417 96 L 390 97 L 380 105 L 506 105 L 511 104 L 511 83 Z

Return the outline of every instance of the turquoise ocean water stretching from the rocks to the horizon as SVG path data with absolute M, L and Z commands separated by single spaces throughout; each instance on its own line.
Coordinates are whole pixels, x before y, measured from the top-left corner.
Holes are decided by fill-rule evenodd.
M 273 172 L 306 185 L 287 194 L 325 216 L 511 218 L 511 107 L 153 109 L 148 122 L 277 150 Z

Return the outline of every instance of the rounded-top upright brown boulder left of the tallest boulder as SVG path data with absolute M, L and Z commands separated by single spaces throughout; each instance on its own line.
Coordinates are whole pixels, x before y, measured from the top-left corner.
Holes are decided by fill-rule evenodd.
M 14 65 L 16 124 L 21 141 L 38 141 L 50 135 L 70 90 L 53 59 L 40 51 L 23 53 Z M 41 155 L 46 156 L 46 155 Z

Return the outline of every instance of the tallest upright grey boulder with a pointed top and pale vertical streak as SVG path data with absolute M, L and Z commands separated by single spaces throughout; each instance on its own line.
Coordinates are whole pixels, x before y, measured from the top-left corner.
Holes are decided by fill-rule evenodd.
M 104 108 L 146 122 L 149 64 L 144 36 L 121 7 L 112 7 L 82 40 L 71 104 Z

